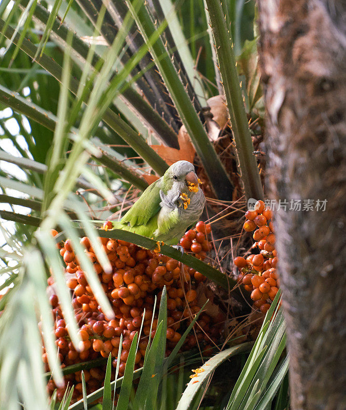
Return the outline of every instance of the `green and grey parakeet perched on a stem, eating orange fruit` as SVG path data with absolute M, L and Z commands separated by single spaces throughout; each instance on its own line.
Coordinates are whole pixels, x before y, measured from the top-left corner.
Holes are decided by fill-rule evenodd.
M 187 228 L 195 224 L 205 206 L 194 166 L 177 161 L 152 183 L 133 204 L 116 229 L 176 245 Z

